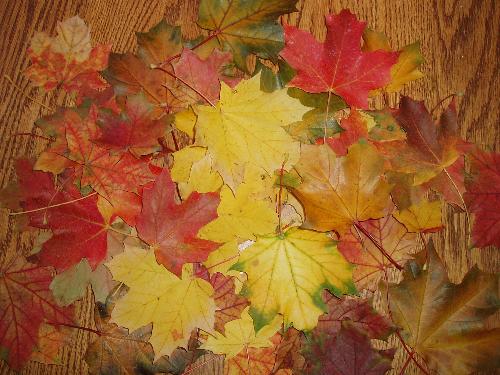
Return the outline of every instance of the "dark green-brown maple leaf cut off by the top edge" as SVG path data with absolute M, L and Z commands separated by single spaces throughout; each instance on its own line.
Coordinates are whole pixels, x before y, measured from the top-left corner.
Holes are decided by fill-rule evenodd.
M 223 50 L 233 53 L 236 65 L 248 71 L 246 59 L 256 54 L 275 58 L 283 48 L 283 29 L 279 16 L 296 11 L 296 0 L 222 0 L 214 6 L 200 2 L 198 25 L 215 32 Z

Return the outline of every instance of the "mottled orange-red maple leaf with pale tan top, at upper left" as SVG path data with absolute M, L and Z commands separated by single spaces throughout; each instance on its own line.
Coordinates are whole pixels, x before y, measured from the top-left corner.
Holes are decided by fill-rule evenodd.
M 59 85 L 66 91 L 102 89 L 105 82 L 98 71 L 108 64 L 111 45 L 90 43 L 90 30 L 78 16 L 57 23 L 56 37 L 38 32 L 28 55 L 32 65 L 25 75 L 36 86 L 52 90 Z

